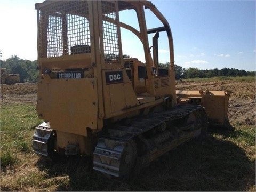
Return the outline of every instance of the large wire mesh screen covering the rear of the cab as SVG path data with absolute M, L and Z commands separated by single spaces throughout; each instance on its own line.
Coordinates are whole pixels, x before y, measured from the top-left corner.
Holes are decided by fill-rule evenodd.
M 40 57 L 89 53 L 86 1 L 61 1 L 40 10 Z

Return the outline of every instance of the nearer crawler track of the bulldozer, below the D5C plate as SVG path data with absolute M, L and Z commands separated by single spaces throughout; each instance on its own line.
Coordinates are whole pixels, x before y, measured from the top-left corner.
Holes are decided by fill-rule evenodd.
M 151 113 L 129 124 L 108 129 L 94 150 L 93 169 L 126 177 L 187 140 L 207 130 L 207 115 L 199 105 L 179 105 Z

